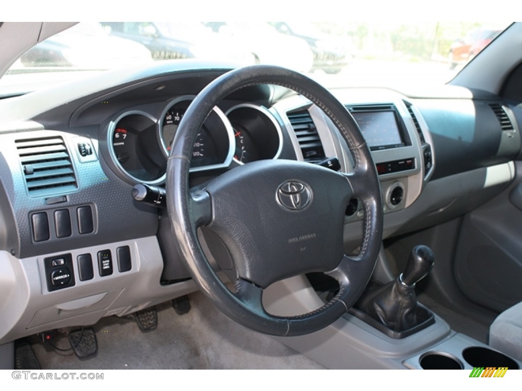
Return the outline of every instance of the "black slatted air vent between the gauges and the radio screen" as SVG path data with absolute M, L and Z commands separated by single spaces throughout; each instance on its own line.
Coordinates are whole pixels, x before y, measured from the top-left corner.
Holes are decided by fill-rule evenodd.
M 323 144 L 314 121 L 306 110 L 287 114 L 299 142 L 305 162 L 317 163 L 325 158 Z

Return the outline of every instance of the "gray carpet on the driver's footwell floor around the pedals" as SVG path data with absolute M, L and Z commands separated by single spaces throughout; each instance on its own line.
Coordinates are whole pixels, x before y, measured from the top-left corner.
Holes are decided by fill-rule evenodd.
M 102 369 L 324 369 L 278 341 L 228 319 L 199 292 L 192 310 L 178 315 L 170 303 L 157 306 L 158 328 L 143 333 L 127 318 L 106 317 L 94 325 L 96 357 L 79 360 L 48 343 L 33 349 L 45 370 Z M 34 342 L 34 341 L 33 341 Z M 69 348 L 66 337 L 54 341 Z

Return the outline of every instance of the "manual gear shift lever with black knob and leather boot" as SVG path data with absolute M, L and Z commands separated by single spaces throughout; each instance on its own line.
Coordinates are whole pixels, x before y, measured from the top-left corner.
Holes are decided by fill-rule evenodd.
M 406 331 L 419 323 L 415 284 L 433 268 L 433 251 L 416 246 L 410 253 L 404 273 L 396 280 L 365 292 L 356 307 L 394 332 Z

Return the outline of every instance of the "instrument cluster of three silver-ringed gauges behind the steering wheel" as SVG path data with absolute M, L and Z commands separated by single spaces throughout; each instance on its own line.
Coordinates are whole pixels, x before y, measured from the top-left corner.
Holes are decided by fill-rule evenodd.
M 162 184 L 174 136 L 194 97 L 181 95 L 168 101 L 158 119 L 132 110 L 112 120 L 107 145 L 117 174 L 133 184 Z M 274 159 L 281 148 L 281 126 L 266 107 L 241 103 L 224 113 L 216 106 L 196 136 L 190 170 L 227 169 Z

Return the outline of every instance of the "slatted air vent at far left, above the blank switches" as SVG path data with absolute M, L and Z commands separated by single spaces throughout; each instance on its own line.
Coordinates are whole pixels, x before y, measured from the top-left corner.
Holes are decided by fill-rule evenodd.
M 73 164 L 61 137 L 15 143 L 29 196 L 43 197 L 78 189 Z

